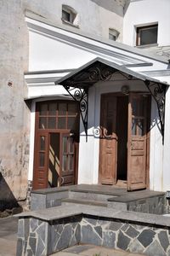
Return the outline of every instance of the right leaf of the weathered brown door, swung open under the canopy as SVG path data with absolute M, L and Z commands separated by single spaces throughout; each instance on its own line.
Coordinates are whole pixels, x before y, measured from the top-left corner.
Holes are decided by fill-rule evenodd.
M 129 96 L 127 135 L 127 190 L 146 188 L 147 96 Z

